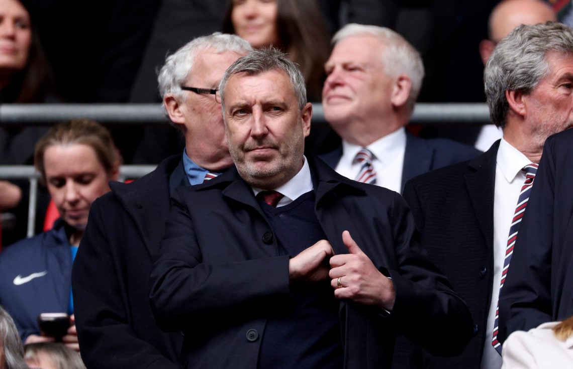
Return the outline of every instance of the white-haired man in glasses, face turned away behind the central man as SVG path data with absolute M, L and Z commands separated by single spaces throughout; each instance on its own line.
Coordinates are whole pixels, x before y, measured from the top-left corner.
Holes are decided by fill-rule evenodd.
M 92 204 L 72 271 L 76 326 L 88 368 L 178 368 L 180 333 L 159 330 L 147 280 L 176 187 L 209 180 L 233 161 L 217 86 L 251 49 L 235 35 L 195 38 L 166 59 L 163 106 L 185 137 L 182 154 L 131 184 L 111 183 Z

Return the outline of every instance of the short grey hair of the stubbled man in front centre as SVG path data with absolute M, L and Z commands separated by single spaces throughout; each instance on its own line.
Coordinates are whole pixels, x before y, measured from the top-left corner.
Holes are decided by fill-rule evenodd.
M 303 110 L 307 105 L 307 87 L 304 83 L 303 74 L 299 67 L 285 53 L 274 47 L 264 47 L 258 50 L 252 50 L 244 57 L 238 58 L 223 74 L 219 84 L 221 92 L 221 104 L 225 109 L 225 87 L 229 78 L 233 74 L 247 73 L 249 75 L 261 74 L 270 70 L 282 70 L 291 80 L 292 88 L 299 103 L 299 109 Z

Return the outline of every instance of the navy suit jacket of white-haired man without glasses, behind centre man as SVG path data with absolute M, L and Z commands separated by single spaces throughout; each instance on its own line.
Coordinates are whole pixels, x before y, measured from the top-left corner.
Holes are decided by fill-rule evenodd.
M 444 138 L 425 140 L 406 132 L 402 188 L 407 180 L 418 174 L 429 172 L 441 166 L 469 160 L 480 153 L 480 150 L 459 142 L 445 140 Z M 331 168 L 336 168 L 340 157 L 342 157 L 342 146 L 331 152 L 321 154 L 319 157 Z

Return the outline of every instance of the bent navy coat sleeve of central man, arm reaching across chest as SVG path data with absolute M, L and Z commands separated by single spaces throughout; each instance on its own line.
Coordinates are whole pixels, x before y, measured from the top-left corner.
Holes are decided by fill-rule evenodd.
M 198 244 L 184 197 L 185 193 L 176 191 L 171 199 L 151 272 L 150 299 L 160 327 L 182 330 L 198 319 L 205 323 L 211 317 L 256 314 L 256 309 L 264 311 L 281 296 L 290 296 L 288 256 L 204 262 L 203 248 L 221 248 L 221 252 L 225 248 L 208 241 Z M 248 235 L 240 238 L 251 239 Z

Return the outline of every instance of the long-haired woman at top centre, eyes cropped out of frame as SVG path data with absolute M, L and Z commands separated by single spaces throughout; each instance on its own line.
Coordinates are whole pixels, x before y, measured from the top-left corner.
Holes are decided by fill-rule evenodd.
M 330 40 L 315 0 L 230 0 L 223 32 L 288 53 L 303 72 L 308 101 L 321 101 Z

